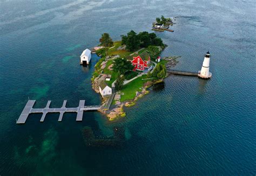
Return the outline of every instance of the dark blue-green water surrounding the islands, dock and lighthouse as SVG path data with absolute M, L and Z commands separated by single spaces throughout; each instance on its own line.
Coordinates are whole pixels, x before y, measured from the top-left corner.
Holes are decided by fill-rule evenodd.
M 90 67 L 79 54 L 131 29 L 150 31 L 154 18 L 175 16 L 174 33 L 157 35 L 180 55 L 177 69 L 198 71 L 212 53 L 211 80 L 170 76 L 164 85 L 109 123 L 98 112 L 29 116 L 28 97 L 44 107 L 99 104 Z M 0 175 L 255 175 L 254 1 L 1 1 Z M 87 147 L 82 128 L 97 137 L 125 129 L 122 146 Z

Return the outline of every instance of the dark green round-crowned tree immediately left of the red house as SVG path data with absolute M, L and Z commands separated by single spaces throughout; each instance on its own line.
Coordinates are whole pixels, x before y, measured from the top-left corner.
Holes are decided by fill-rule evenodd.
M 120 74 L 124 74 L 127 71 L 132 70 L 134 67 L 129 60 L 117 58 L 113 61 L 113 71 Z

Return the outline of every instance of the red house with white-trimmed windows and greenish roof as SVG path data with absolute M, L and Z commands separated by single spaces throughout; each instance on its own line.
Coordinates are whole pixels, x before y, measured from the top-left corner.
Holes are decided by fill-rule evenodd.
M 144 51 L 137 57 L 133 57 L 133 60 L 131 62 L 134 66 L 133 71 L 148 71 L 151 68 L 150 55 L 146 51 Z

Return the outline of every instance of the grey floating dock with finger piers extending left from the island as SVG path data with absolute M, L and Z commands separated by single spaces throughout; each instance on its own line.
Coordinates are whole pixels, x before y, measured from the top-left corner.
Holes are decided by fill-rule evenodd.
M 100 105 L 89 105 L 85 106 L 85 100 L 80 100 L 79 105 L 76 108 L 66 108 L 66 100 L 63 101 L 61 108 L 50 108 L 51 101 L 48 101 L 45 108 L 33 108 L 33 105 L 36 103 L 36 100 L 29 100 L 25 108 L 23 109 L 21 115 L 19 116 L 17 120 L 17 124 L 23 124 L 26 122 L 26 119 L 28 116 L 32 113 L 42 113 L 42 117 L 40 119 L 40 122 L 44 122 L 45 116 L 48 113 L 59 113 L 58 121 L 61 122 L 63 118 L 63 114 L 65 112 L 76 112 L 77 117 L 76 121 L 82 121 L 83 120 L 83 112 L 87 110 L 99 110 L 101 108 Z

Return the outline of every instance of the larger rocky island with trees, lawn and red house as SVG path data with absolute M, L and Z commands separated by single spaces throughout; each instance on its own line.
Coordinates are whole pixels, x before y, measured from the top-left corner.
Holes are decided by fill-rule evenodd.
M 160 58 L 166 45 L 155 33 L 131 30 L 121 37 L 121 41 L 112 41 L 108 33 L 102 34 L 96 51 L 101 58 L 91 79 L 92 88 L 103 97 L 103 107 L 115 91 L 114 108 L 100 110 L 110 121 L 124 117 L 124 106 L 130 107 L 148 94 L 147 88 L 166 78 L 166 66 L 177 64 L 177 57 Z

